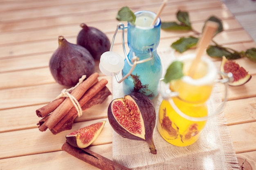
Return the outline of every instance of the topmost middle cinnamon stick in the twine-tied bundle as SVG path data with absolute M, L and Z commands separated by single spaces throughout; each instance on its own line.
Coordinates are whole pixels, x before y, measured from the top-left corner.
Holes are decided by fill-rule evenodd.
M 84 82 L 77 86 L 70 94 L 79 100 L 83 94 L 90 88 L 90 85 L 99 77 L 99 73 L 93 73 Z M 49 129 L 52 129 L 59 120 L 61 120 L 67 112 L 73 107 L 72 101 L 66 98 L 50 115 L 45 122 Z

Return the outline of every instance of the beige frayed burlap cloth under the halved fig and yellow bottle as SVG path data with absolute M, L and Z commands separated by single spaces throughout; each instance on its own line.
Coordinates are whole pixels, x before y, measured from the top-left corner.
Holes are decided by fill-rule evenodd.
M 162 61 L 164 57 L 169 57 L 170 61 L 170 53 L 161 53 Z M 162 63 L 165 71 L 166 65 Z M 118 84 L 113 78 L 112 84 L 113 99 L 124 97 L 122 83 Z M 153 99 L 156 124 L 161 102 L 160 95 Z M 218 86 L 215 86 L 207 102 L 209 112 L 216 110 L 220 103 L 221 93 Z M 238 170 L 238 160 L 225 124 L 226 119 L 220 111 L 207 121 L 198 141 L 186 147 L 177 147 L 166 142 L 155 126 L 153 139 L 156 155 L 150 153 L 146 142 L 123 138 L 113 130 L 113 160 L 133 170 Z

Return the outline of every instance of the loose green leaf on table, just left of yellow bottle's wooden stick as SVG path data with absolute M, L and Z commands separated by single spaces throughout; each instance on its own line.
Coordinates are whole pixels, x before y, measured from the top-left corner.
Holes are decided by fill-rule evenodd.
M 190 36 L 187 38 L 180 38 L 176 42 L 173 42 L 173 44 L 171 44 L 171 47 L 179 51 L 180 53 L 183 53 L 184 51 L 196 46 L 197 43 L 198 38 Z

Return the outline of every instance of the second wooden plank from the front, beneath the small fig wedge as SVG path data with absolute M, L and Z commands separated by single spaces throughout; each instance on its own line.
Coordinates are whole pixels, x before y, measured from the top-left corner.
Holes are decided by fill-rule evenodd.
M 74 131 L 74 129 L 79 129 L 101 120 L 106 120 L 107 122 L 101 134 L 93 142 L 92 146 L 111 143 L 112 128 L 110 127 L 107 118 L 75 123 L 72 130 L 63 131 L 58 133 L 57 135 L 52 135 L 49 130 L 45 132 L 40 132 L 37 128 L 19 130 L 18 132 L 2 132 L 0 133 L 0 137 L 1 139 L 4 139 L 4 143 L 2 143 L 0 146 L 0 159 L 13 156 L 34 155 L 43 152 L 53 152 L 61 150 L 62 144 L 64 144 L 64 142 L 66 141 L 65 135 Z

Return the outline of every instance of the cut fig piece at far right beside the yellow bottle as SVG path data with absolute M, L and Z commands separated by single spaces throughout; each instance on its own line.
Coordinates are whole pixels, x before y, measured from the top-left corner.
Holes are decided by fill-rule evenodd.
M 250 75 L 245 68 L 240 67 L 239 64 L 232 60 L 227 60 L 225 56 L 222 57 L 220 71 L 233 74 L 234 81 L 229 82 L 230 86 L 241 86 L 252 78 L 252 75 Z

